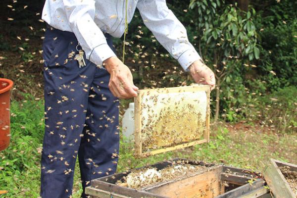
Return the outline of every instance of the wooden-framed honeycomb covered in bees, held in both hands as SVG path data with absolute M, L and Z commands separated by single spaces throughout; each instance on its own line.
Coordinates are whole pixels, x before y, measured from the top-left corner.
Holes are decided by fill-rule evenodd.
M 135 155 L 146 157 L 209 142 L 207 85 L 139 90 Z

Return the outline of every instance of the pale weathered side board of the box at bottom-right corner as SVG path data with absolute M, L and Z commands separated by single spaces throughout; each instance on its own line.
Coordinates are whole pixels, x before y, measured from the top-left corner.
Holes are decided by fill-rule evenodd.
M 296 198 L 295 193 L 289 186 L 280 169 L 278 168 L 277 163 L 279 164 L 283 162 L 275 159 L 270 159 L 270 164 L 265 167 L 265 170 L 263 172 L 264 178 L 268 186 L 270 187 L 271 192 L 273 193 L 275 198 Z

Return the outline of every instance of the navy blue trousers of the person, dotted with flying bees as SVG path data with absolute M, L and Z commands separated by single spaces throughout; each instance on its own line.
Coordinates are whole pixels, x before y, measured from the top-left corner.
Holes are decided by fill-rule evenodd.
M 112 48 L 110 35 L 106 35 Z M 83 190 L 91 180 L 116 171 L 118 105 L 108 88 L 110 75 L 85 58 L 79 68 L 73 33 L 48 29 L 43 43 L 45 136 L 41 197 L 69 198 L 78 155 Z M 112 48 L 113 49 L 113 48 Z M 86 195 L 82 194 L 85 198 Z

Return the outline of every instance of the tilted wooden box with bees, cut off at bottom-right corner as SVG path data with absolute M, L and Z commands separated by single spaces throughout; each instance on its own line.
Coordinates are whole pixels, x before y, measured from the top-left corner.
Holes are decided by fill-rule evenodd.
M 286 174 L 284 174 L 284 171 L 286 171 Z M 296 164 L 270 159 L 270 164 L 265 168 L 263 174 L 275 198 L 297 198 Z M 290 174 L 290 178 L 287 178 L 288 174 Z M 295 189 L 293 189 L 293 186 Z

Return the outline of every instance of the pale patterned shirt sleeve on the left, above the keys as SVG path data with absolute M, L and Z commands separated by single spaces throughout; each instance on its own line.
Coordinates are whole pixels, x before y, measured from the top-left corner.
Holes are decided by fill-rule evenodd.
M 63 0 L 69 26 L 87 59 L 96 65 L 115 53 L 107 45 L 105 36 L 94 22 L 95 0 Z

